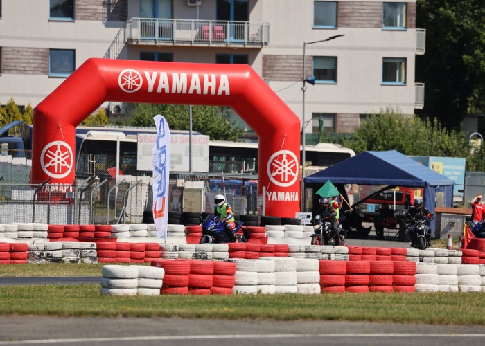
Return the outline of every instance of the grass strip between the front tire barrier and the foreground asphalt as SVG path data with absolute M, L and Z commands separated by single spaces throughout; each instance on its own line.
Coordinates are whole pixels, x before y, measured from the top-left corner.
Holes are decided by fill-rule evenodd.
M 0 314 L 485 325 L 482 293 L 119 297 L 99 291 L 99 285 L 89 284 L 3 286 Z

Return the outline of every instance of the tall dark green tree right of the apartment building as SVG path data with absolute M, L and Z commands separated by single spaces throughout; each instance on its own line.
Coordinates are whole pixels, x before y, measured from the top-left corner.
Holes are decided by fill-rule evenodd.
M 426 29 L 426 53 L 416 61 L 425 82 L 425 109 L 447 129 L 466 113 L 485 112 L 485 6 L 483 0 L 421 0 L 416 27 Z

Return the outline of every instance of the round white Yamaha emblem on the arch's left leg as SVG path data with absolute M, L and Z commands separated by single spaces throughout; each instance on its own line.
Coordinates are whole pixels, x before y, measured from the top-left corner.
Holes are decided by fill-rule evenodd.
M 40 165 L 44 173 L 52 178 L 61 179 L 69 175 L 74 163 L 69 144 L 57 140 L 48 143 L 40 154 Z

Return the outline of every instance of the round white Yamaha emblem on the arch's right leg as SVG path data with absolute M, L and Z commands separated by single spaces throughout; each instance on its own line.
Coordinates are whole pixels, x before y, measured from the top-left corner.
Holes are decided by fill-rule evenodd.
M 275 152 L 267 161 L 267 176 L 272 183 L 286 188 L 298 178 L 298 158 L 289 150 Z

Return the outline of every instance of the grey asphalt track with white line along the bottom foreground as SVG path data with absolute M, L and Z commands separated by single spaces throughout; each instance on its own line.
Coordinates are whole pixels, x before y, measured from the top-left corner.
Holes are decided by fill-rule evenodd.
M 332 321 L 0 317 L 1 345 L 485 345 L 484 327 Z

